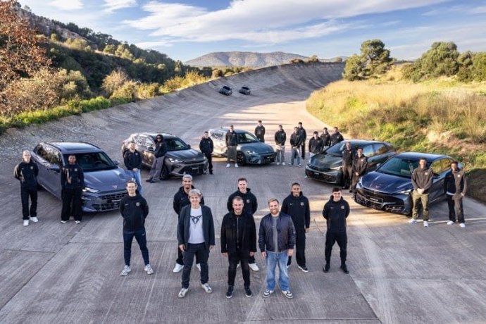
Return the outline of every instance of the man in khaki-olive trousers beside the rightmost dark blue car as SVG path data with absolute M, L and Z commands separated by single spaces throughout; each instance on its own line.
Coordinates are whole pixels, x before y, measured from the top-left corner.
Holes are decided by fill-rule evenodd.
M 412 219 L 409 220 L 410 224 L 417 223 L 418 215 L 418 203 L 422 203 L 423 211 L 423 226 L 428 228 L 429 226 L 429 189 L 432 187 L 432 177 L 434 171 L 427 166 L 427 160 L 420 158 L 418 161 L 418 168 L 412 172 Z

